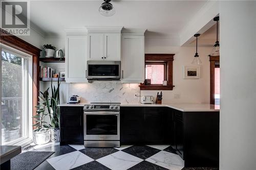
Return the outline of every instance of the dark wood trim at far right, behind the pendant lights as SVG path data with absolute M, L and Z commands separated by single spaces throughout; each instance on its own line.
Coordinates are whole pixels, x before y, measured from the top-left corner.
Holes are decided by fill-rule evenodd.
M 210 104 L 215 104 L 215 68 L 220 63 L 220 56 L 210 56 Z

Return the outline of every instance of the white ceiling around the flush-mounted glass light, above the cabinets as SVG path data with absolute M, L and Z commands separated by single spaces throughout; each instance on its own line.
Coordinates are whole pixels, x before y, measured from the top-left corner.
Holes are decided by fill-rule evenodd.
M 31 1 L 31 26 L 46 37 L 60 37 L 65 29 L 86 26 L 124 26 L 147 29 L 147 34 L 179 36 L 207 1 L 113 1 L 113 16 L 102 16 L 103 1 Z

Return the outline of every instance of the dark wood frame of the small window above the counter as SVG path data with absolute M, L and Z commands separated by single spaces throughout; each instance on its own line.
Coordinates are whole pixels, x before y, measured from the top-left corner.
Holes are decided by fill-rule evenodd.
M 140 90 L 173 90 L 173 61 L 175 54 L 145 54 L 145 63 L 150 62 L 164 62 L 166 63 L 166 80 L 167 86 L 163 85 L 144 85 L 140 84 Z

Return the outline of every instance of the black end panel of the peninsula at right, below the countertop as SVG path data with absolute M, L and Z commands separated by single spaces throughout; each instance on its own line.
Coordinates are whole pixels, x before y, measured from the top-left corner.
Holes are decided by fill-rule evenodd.
M 220 112 L 184 112 L 185 167 L 219 167 Z

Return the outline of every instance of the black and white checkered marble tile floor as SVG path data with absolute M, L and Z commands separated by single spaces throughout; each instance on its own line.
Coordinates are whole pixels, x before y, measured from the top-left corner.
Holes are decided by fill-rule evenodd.
M 29 151 L 55 153 L 35 169 L 139 169 L 197 170 L 183 168 L 184 161 L 169 145 L 122 145 L 120 148 L 84 148 L 83 145 L 47 143 L 35 145 Z M 23 151 L 26 152 L 26 151 Z M 202 170 L 214 170 L 200 168 Z

